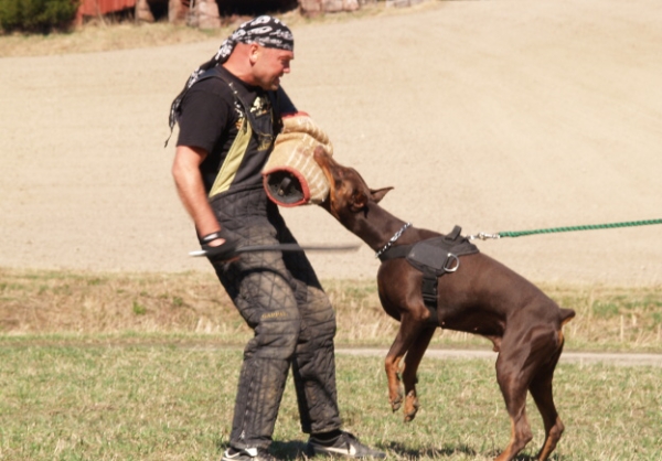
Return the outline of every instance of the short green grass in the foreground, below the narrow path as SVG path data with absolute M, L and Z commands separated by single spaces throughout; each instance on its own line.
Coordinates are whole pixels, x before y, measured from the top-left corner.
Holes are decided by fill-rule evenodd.
M 241 352 L 195 345 L 7 343 L 0 347 L 0 459 L 216 460 L 227 442 Z M 510 424 L 490 361 L 425 360 L 421 409 L 392 414 L 382 357 L 338 357 L 344 427 L 391 459 L 485 460 Z M 662 459 L 662 368 L 559 365 L 566 432 L 555 460 Z M 528 403 L 534 440 L 542 424 Z M 288 383 L 271 451 L 302 460 Z

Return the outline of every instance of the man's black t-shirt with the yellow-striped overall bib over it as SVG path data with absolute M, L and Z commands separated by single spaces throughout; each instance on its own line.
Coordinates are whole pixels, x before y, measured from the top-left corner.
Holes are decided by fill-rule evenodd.
M 271 107 L 276 100 L 278 111 Z M 201 148 L 209 153 L 200 167 L 207 193 L 217 176 L 223 184 L 220 190 L 214 186 L 215 193 L 258 189 L 279 126 L 279 114 L 286 111 L 296 109 L 284 92 L 276 96 L 217 66 L 201 76 L 184 96 L 178 117 L 177 144 Z M 245 122 L 250 125 L 250 139 L 231 152 Z

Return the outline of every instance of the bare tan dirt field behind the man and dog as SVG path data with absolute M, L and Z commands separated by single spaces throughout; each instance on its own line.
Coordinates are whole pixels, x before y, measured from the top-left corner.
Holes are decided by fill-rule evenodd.
M 417 226 L 466 233 L 662 218 L 662 3 L 428 2 L 295 29 L 285 86 L 337 158 Z M 0 265 L 209 270 L 170 178 L 167 112 L 205 43 L 1 58 Z M 285 211 L 301 243 L 353 243 Z M 481 243 L 535 281 L 662 282 L 662 226 Z M 356 254 L 323 278 L 372 278 Z

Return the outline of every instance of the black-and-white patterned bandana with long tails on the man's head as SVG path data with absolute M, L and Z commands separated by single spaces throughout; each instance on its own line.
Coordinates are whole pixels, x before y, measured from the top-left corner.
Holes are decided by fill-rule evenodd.
M 177 120 L 177 112 L 186 92 L 195 84 L 195 82 L 197 82 L 202 74 L 210 68 L 226 62 L 237 43 L 257 43 L 258 45 L 268 49 L 295 51 L 295 37 L 292 32 L 280 20 L 269 15 L 261 15 L 244 22 L 227 39 L 225 39 L 214 57 L 206 63 L 201 64 L 193 71 L 186 81 L 184 89 L 182 89 L 172 101 L 172 105 L 170 106 L 170 118 L 168 120 L 171 136 Z M 168 140 L 169 139 L 170 137 L 168 137 Z M 168 140 L 166 140 L 166 146 L 168 146 Z

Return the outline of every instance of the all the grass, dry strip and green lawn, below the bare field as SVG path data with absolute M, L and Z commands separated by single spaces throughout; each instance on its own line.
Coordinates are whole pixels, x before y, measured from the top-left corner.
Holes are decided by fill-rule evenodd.
M 397 323 L 374 282 L 325 281 L 338 346 L 387 346 Z M 660 352 L 662 288 L 545 287 L 575 309 L 567 349 Z M 0 270 L 1 460 L 218 459 L 231 428 L 241 350 L 250 332 L 205 274 Z M 435 347 L 485 340 L 439 332 Z M 383 357 L 338 357 L 345 428 L 392 459 L 485 460 L 510 422 L 490 361 L 424 361 L 421 410 L 393 415 Z M 662 459 L 662 368 L 559 365 L 566 435 L 555 460 Z M 530 401 L 535 438 L 542 424 Z M 303 459 L 288 384 L 273 451 Z

